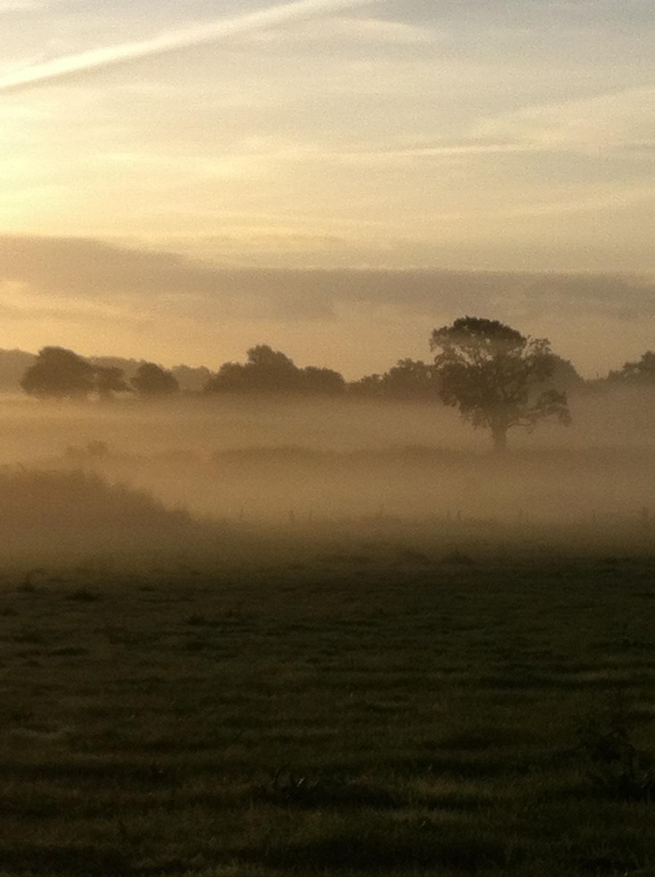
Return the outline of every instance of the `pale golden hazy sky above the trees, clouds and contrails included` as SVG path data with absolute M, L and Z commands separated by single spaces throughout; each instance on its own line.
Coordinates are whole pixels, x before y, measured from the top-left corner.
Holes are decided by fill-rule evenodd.
M 655 348 L 652 0 L 0 0 L 0 347 Z

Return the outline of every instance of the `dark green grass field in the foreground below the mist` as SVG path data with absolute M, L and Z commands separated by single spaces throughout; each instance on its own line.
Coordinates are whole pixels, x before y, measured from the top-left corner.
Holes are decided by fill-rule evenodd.
M 655 553 L 280 539 L 0 581 L 0 874 L 655 873 Z

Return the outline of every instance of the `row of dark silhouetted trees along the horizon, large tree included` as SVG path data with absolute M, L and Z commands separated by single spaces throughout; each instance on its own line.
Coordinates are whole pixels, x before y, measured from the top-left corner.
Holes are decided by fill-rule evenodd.
M 333 369 L 299 368 L 269 345 L 247 351 L 246 362 L 225 362 L 197 394 L 308 394 L 380 400 L 441 401 L 473 426 L 489 430 L 504 451 L 515 426 L 532 430 L 542 420 L 570 423 L 567 392 L 590 386 L 570 361 L 553 353 L 547 338 L 523 336 L 500 321 L 461 317 L 433 329 L 433 361 L 400 360 L 384 374 L 346 382 Z M 189 369 L 193 370 L 193 369 Z M 596 381 L 596 384 L 599 382 Z M 655 353 L 612 371 L 608 386 L 655 386 Z M 133 377 L 117 365 L 88 361 L 63 347 L 44 347 L 26 369 L 20 386 L 38 398 L 109 402 L 134 394 L 162 399 L 180 393 L 173 372 L 142 361 Z

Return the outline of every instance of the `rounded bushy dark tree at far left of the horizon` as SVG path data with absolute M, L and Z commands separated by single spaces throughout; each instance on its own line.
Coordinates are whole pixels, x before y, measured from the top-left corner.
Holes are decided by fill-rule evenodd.
M 85 399 L 95 389 L 95 369 L 65 347 L 43 347 L 20 386 L 41 399 Z

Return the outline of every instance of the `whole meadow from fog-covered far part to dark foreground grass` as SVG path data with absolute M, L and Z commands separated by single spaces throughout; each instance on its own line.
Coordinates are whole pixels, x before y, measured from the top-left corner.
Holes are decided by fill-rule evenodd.
M 0 874 L 652 874 L 650 444 L 290 413 L 7 414 Z

